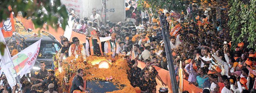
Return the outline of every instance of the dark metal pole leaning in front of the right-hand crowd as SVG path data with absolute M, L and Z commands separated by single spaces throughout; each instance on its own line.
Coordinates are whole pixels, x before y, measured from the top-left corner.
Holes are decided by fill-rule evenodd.
M 164 48 L 165 48 L 167 63 L 168 63 L 168 67 L 169 67 L 169 73 L 170 73 L 171 84 L 172 84 L 172 92 L 178 93 L 178 84 L 177 84 L 177 80 L 176 80 L 174 64 L 173 64 L 173 59 L 172 59 L 172 49 L 171 49 L 170 40 L 169 40 L 169 37 L 170 37 L 169 23 L 167 22 L 166 16 L 163 13 L 161 13 L 159 15 L 159 19 L 160 19 L 160 23 L 161 23 L 161 27 L 162 27 Z

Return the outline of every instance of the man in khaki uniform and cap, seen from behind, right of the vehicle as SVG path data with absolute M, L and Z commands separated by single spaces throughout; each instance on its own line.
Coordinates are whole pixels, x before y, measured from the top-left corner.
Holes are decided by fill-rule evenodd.
M 141 53 L 141 56 L 139 59 L 140 60 L 146 60 L 146 59 L 151 60 L 150 59 L 151 53 L 149 51 L 151 46 L 149 43 L 145 43 L 144 46 L 145 46 L 145 50 Z

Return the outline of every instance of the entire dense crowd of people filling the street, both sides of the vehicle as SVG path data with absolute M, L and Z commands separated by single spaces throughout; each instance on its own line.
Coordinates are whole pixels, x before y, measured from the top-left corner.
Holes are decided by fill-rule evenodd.
M 159 19 L 152 18 L 147 11 L 148 16 L 141 18 L 134 2 L 126 0 L 126 16 L 135 19 L 134 22 L 114 23 L 107 20 L 106 25 L 102 24 L 101 16 L 95 9 L 92 10 L 93 14 L 89 18 L 83 19 L 76 17 L 72 12 L 73 9 L 68 9 L 69 14 L 73 15 L 73 31 L 84 34 L 86 42 L 80 43 L 77 37 L 68 41 L 66 37 L 61 36 L 63 46 L 60 65 L 63 57 L 80 57 L 86 63 L 86 57 L 110 54 L 113 58 L 126 59 L 130 67 L 127 71 L 128 79 L 131 85 L 139 87 L 141 92 L 155 93 L 156 78 L 166 85 L 153 67 L 158 66 L 168 70 Z M 204 89 L 204 93 L 256 92 L 255 49 L 247 48 L 243 42 L 235 44 L 236 46 L 232 48 L 228 33 L 221 29 L 220 24 L 213 25 L 207 14 L 195 14 L 196 16 L 191 16 L 191 13 L 180 14 L 179 18 L 172 16 L 173 14 L 165 12 L 171 26 L 169 40 L 177 76 L 181 61 L 183 79 Z M 137 60 L 145 62 L 146 67 L 140 69 Z M 41 69 L 32 74 L 30 79 L 24 76 L 20 80 L 24 93 L 38 92 L 31 88 L 46 91 L 44 93 L 58 91 L 58 79 L 54 77 L 54 71 L 46 71 L 44 67 L 45 63 L 42 61 Z M 72 81 L 71 93 L 74 90 L 86 91 L 83 88 L 83 75 L 83 69 L 79 69 L 76 79 Z M 6 92 L 7 90 L 10 89 L 6 86 L 2 89 Z M 187 91 L 184 90 L 184 93 Z

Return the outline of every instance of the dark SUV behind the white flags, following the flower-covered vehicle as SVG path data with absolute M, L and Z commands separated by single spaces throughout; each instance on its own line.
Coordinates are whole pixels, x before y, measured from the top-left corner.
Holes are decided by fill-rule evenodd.
M 51 69 L 53 63 L 52 57 L 61 48 L 61 44 L 59 43 L 59 41 L 55 39 L 53 35 L 45 31 L 42 31 L 40 35 L 37 35 L 36 33 L 32 33 L 32 31 L 28 29 L 28 31 L 25 30 L 14 32 L 11 37 L 5 38 L 5 41 L 8 45 L 10 52 L 12 53 L 13 50 L 17 50 L 18 52 L 24 50 L 25 48 L 40 40 L 41 38 L 42 41 L 40 45 L 39 54 L 37 56 L 36 63 L 33 68 L 37 70 L 40 69 L 40 62 L 44 61 L 46 65 L 45 68 Z

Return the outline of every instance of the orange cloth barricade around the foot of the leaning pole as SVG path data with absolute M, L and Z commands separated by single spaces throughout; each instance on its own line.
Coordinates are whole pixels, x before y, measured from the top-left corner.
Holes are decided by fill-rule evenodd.
M 138 67 L 143 69 L 145 66 L 146 65 L 145 65 L 144 62 L 138 61 Z M 157 66 L 154 66 L 154 67 L 156 68 L 156 71 L 158 72 L 158 75 L 161 77 L 162 81 L 165 84 L 167 84 L 167 87 L 168 87 L 168 90 L 169 90 L 168 93 L 172 93 L 172 85 L 171 85 L 171 79 L 170 79 L 169 71 L 167 71 L 165 69 L 162 69 L 160 67 L 157 67 Z M 178 79 L 178 78 L 176 77 L 176 79 Z M 158 79 L 156 79 L 156 82 L 157 82 L 156 93 L 159 93 L 158 91 L 159 91 L 159 88 L 162 86 L 162 83 Z M 193 84 L 189 84 L 188 81 L 183 79 L 183 91 L 185 91 L 185 90 L 187 90 L 189 93 L 200 93 L 200 92 L 203 91 L 202 89 L 196 87 Z

